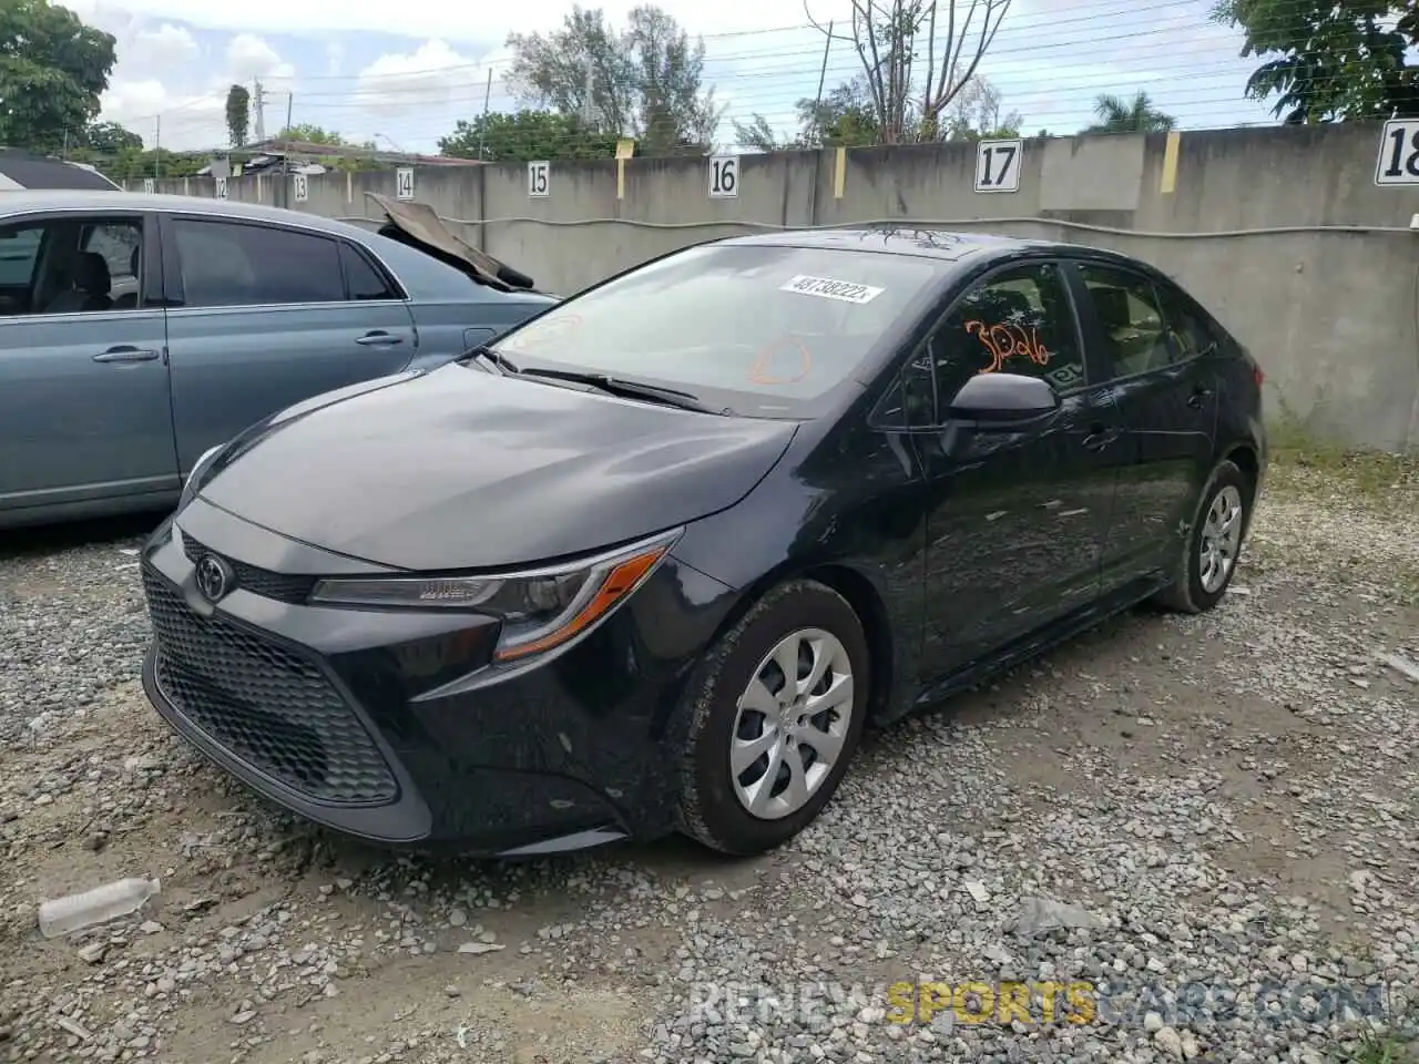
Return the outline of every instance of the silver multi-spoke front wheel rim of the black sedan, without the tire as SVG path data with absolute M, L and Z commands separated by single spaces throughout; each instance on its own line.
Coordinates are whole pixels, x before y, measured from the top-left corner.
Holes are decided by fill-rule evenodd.
M 729 775 L 739 803 L 761 820 L 803 809 L 833 772 L 853 718 L 853 664 L 822 628 L 785 636 L 739 697 Z

